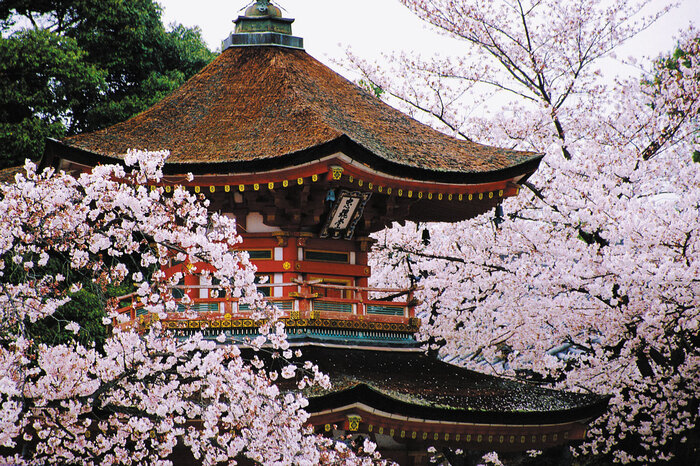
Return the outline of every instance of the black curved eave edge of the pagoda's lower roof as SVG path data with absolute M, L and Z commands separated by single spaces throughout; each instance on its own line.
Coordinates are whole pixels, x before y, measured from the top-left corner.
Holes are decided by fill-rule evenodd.
M 587 422 L 602 415 L 608 406 L 608 397 L 601 397 L 586 406 L 551 411 L 482 411 L 460 407 L 434 407 L 408 403 L 387 396 L 366 384 L 332 392 L 322 396 L 309 396 L 307 411 L 313 416 L 328 410 L 340 409 L 361 402 L 371 408 L 394 416 L 420 418 L 439 422 L 501 424 L 501 425 L 542 425 L 569 422 Z

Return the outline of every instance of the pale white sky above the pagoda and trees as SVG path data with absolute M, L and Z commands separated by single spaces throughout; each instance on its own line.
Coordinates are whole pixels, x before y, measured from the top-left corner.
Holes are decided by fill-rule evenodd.
M 163 22 L 199 26 L 209 48 L 216 50 L 233 30 L 232 21 L 251 3 L 248 0 L 157 0 L 163 7 Z M 565 0 L 563 0 L 565 1 Z M 670 0 L 655 0 L 667 4 Z M 423 54 L 453 51 L 462 44 L 429 30 L 397 0 L 279 0 L 285 17 L 295 18 L 293 33 L 304 38 L 306 51 L 329 64 L 341 57 L 345 47 L 364 58 L 379 58 L 381 52 L 413 50 Z M 669 51 L 673 36 L 694 24 L 700 28 L 700 0 L 680 0 L 680 6 L 643 31 L 620 56 L 637 59 L 656 57 Z

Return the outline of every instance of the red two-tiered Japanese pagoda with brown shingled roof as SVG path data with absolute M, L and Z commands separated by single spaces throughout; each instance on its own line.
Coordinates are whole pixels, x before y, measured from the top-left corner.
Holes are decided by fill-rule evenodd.
M 218 58 L 182 87 L 123 123 L 48 141 L 44 166 L 77 173 L 120 163 L 129 149 L 169 150 L 165 191 L 186 186 L 236 218 L 290 343 L 330 377 L 331 390 L 307 393 L 317 432 L 369 436 L 400 464 L 423 464 L 431 445 L 525 451 L 583 438 L 605 399 L 428 356 L 414 337 L 415 290 L 369 285 L 371 233 L 488 212 L 542 155 L 411 119 L 308 55 L 293 20 L 267 1 L 234 22 Z M 214 288 L 190 275 L 173 292 L 187 293 L 196 314 L 173 312 L 163 326 L 223 333 L 228 344 L 255 335 L 250 309 Z

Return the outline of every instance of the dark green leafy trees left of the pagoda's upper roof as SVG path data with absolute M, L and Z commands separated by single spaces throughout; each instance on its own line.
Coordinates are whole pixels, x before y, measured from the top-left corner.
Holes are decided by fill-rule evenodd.
M 215 56 L 154 0 L 3 0 L 0 33 L 0 169 L 142 112 Z

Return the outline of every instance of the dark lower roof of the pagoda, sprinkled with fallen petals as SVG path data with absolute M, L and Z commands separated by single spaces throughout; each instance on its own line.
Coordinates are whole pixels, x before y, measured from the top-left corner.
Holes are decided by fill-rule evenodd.
M 549 390 L 473 372 L 423 353 L 302 349 L 330 377 L 330 391 L 307 392 L 309 411 L 362 401 L 386 412 L 453 422 L 557 423 L 596 417 L 608 399 Z

